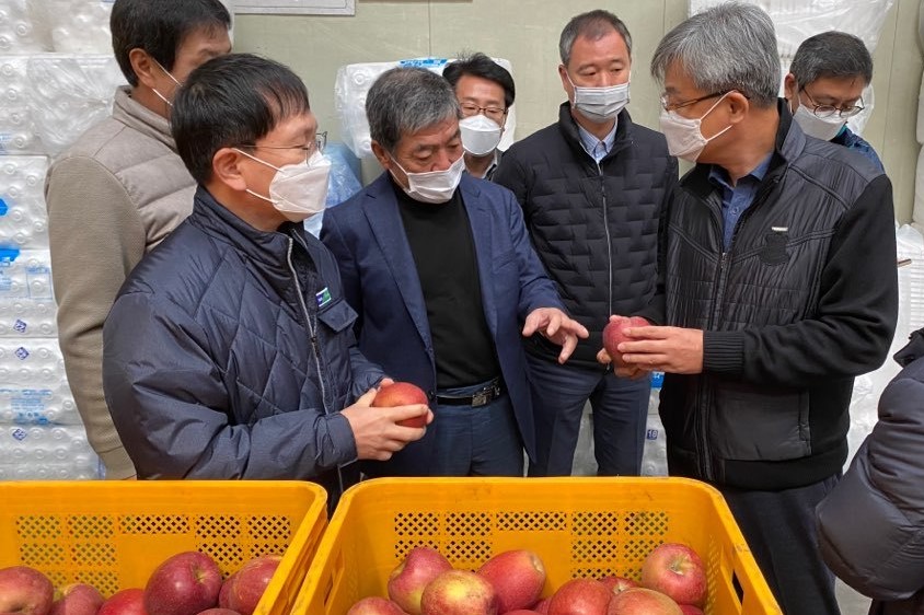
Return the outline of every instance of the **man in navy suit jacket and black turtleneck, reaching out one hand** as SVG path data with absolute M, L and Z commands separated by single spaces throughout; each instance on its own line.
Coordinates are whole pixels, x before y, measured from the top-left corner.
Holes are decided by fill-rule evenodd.
M 586 337 L 562 310 L 509 190 L 463 172 L 459 102 L 428 70 L 393 69 L 366 100 L 385 172 L 325 213 L 321 239 L 359 313 L 359 349 L 423 388 L 426 437 L 373 476 L 522 476 L 535 454 L 522 336 L 565 361 Z

